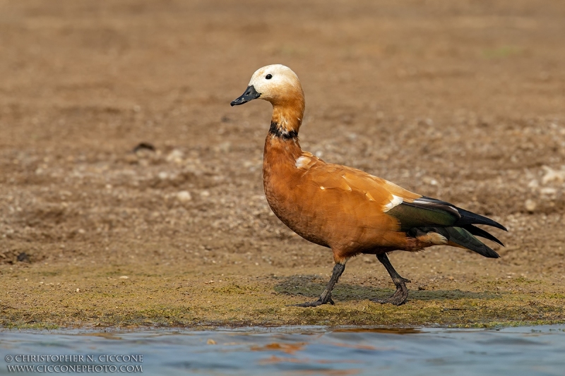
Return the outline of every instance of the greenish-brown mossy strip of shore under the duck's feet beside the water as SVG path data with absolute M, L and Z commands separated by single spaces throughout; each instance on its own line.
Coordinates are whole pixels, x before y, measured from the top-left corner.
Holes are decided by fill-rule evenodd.
M 507 327 L 565 323 L 565 296 L 551 280 L 468 283 L 445 279 L 432 288 L 410 289 L 400 307 L 369 298 L 393 293 L 391 286 L 364 286 L 363 274 L 344 278 L 335 305 L 299 308 L 323 289 L 318 274 L 255 277 L 160 267 L 61 267 L 8 269 L 1 305 L 4 329 L 219 329 L 238 327 Z M 206 268 L 205 268 L 206 269 Z M 284 272 L 291 272 L 286 269 Z M 357 282 L 357 283 L 355 283 Z M 413 286 L 414 284 L 412 284 Z M 411 286 L 411 287 L 412 287 Z

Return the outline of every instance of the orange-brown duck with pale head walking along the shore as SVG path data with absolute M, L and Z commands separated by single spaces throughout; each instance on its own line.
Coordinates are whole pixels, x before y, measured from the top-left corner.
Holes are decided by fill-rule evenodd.
M 476 225 L 507 231 L 492 219 L 448 202 L 412 193 L 383 178 L 348 166 L 331 164 L 302 150 L 298 133 L 304 119 L 304 91 L 287 66 L 259 68 L 244 93 L 231 102 L 238 106 L 263 99 L 273 114 L 263 151 L 263 188 L 270 209 L 302 238 L 330 248 L 332 275 L 317 301 L 297 304 L 316 307 L 335 304 L 332 290 L 347 260 L 376 255 L 396 286 L 389 298 L 375 303 L 402 305 L 409 279 L 400 277 L 388 259 L 395 250 L 417 252 L 436 245 L 465 248 L 484 257 L 496 253 L 477 237 L 499 245 L 495 236 Z

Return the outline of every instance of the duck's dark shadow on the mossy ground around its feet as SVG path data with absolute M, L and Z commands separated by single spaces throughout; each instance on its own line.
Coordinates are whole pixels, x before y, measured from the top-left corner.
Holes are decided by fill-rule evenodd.
M 326 282 L 316 275 L 294 275 L 288 277 L 275 277 L 275 291 L 288 296 L 304 296 L 316 300 L 326 288 Z M 387 284 L 388 286 L 388 284 Z M 454 290 L 418 290 L 410 289 L 409 299 L 414 301 L 446 301 L 453 299 L 496 299 L 501 293 L 492 291 L 472 292 Z M 338 283 L 332 291 L 336 301 L 359 301 L 373 298 L 388 298 L 394 293 L 393 289 L 382 286 L 361 286 L 355 284 Z

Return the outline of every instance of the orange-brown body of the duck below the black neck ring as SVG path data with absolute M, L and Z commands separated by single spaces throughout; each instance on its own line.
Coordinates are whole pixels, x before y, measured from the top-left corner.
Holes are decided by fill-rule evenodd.
M 297 159 L 304 165 L 297 166 Z M 333 250 L 335 262 L 359 253 L 421 250 L 433 245 L 409 238 L 383 212 L 392 195 L 420 198 L 381 178 L 302 152 L 297 140 L 268 135 L 263 185 L 275 215 L 299 236 Z

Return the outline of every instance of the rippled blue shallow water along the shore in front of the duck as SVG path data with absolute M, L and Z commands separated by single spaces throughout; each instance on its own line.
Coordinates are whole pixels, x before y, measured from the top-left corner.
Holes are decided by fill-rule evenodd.
M 564 375 L 565 325 L 106 333 L 4 330 L 0 354 L 0 375 L 14 373 L 8 365 L 76 364 L 90 365 L 90 373 L 139 374 L 143 370 L 145 375 Z M 44 363 L 16 358 L 30 354 L 55 357 Z M 84 359 L 61 362 L 57 356 L 64 354 Z M 120 354 L 143 355 L 143 360 L 107 357 Z M 11 362 L 6 356 L 12 356 Z M 95 365 L 99 368 L 92 368 Z M 100 365 L 115 368 L 101 372 Z M 133 368 L 136 365 L 141 368 Z M 41 370 L 60 373 L 69 368 Z

